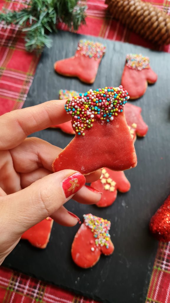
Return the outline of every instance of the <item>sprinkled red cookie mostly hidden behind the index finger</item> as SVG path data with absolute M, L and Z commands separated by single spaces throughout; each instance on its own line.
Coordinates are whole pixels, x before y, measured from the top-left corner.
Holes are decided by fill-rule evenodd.
M 69 99 L 72 98 L 73 96 L 77 96 L 79 95 L 79 93 L 77 91 L 67 91 L 67 89 L 60 89 L 59 91 L 59 98 L 60 100 L 64 100 L 64 99 Z M 70 135 L 74 135 L 75 132 L 72 128 L 71 125 L 71 121 L 62 123 L 62 124 L 57 124 L 57 125 L 53 125 L 51 126 L 51 128 L 60 128 L 63 132 L 70 134 Z

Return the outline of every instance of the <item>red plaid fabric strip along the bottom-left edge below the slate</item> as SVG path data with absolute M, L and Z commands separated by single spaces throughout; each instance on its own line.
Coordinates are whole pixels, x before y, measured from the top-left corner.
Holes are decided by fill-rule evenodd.
M 1 303 L 97 303 L 6 268 L 0 268 Z

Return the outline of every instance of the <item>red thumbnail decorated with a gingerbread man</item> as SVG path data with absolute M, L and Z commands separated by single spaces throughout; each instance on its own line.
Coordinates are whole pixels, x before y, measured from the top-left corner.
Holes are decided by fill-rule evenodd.
M 66 198 L 74 195 L 86 183 L 86 178 L 79 172 L 67 177 L 62 184 Z

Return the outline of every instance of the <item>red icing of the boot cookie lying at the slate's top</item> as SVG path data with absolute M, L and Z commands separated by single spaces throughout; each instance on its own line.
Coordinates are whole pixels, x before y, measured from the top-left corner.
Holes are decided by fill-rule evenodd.
M 77 77 L 83 82 L 93 83 L 101 59 L 89 58 L 89 56 L 80 55 L 80 51 L 76 51 L 75 56 L 55 62 L 54 69 L 58 74 Z

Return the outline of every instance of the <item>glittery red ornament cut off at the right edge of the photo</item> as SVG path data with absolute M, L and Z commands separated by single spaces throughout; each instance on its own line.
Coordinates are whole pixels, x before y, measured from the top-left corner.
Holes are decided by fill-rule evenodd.
M 149 227 L 159 241 L 170 241 L 170 195 L 151 218 Z

